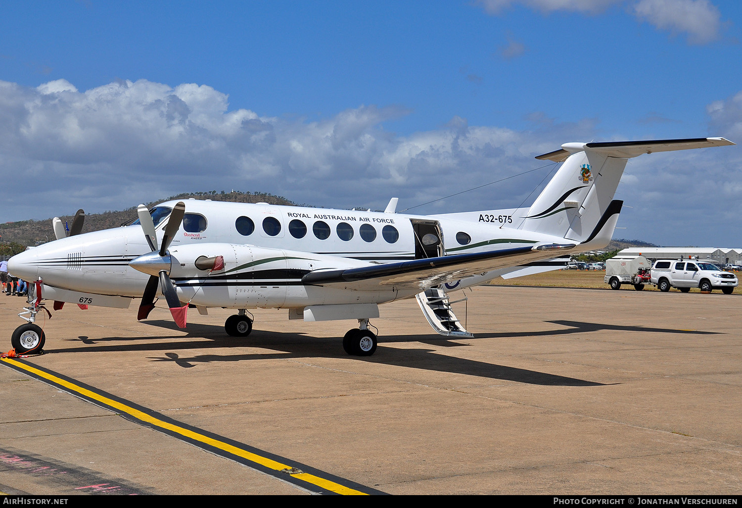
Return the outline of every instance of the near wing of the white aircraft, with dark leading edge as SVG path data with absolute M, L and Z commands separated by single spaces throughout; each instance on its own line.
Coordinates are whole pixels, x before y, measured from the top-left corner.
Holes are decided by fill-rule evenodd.
M 556 257 L 555 251 L 570 250 L 574 247 L 576 244 L 539 244 L 533 247 L 444 255 L 439 258 L 416 259 L 370 267 L 315 270 L 303 276 L 301 281 L 303 284 L 315 286 L 332 284 L 348 290 L 375 290 L 380 287 L 388 289 L 389 286 L 399 289 L 425 290 L 444 282 L 463 279 L 490 270 L 551 259 Z

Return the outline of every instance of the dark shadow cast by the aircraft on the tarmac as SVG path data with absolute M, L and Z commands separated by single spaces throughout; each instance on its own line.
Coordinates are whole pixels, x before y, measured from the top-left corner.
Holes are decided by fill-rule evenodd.
M 517 333 L 483 333 L 478 337 L 464 339 L 465 341 L 476 339 L 492 338 L 510 338 L 520 336 L 559 336 L 568 333 L 585 333 L 600 330 L 627 330 L 648 333 L 696 333 L 712 334 L 717 332 L 692 331 L 692 330 L 673 330 L 666 328 L 646 328 L 643 326 L 619 326 L 603 325 L 600 323 L 576 322 L 576 321 L 548 321 L 555 325 L 567 326 L 570 328 L 559 328 L 557 330 L 542 330 L 531 332 Z M 148 325 L 154 325 L 158 328 L 178 331 L 172 322 L 169 321 L 150 321 Z M 197 340 L 188 340 L 197 338 Z M 203 339 L 209 340 L 203 340 Z M 151 340 L 152 342 L 142 344 L 141 341 Z M 171 339 L 168 342 L 162 340 Z M 58 350 L 47 349 L 47 353 L 82 353 L 93 351 L 167 351 L 164 356 L 151 357 L 154 362 L 174 362 L 182 368 L 192 368 L 200 363 L 205 362 L 242 362 L 257 359 L 288 359 L 288 358 L 306 358 L 306 357 L 324 357 L 324 358 L 349 358 L 341 346 L 341 341 L 335 337 L 312 337 L 303 333 L 285 333 L 263 330 L 253 330 L 248 337 L 231 337 L 226 335 L 224 329 L 217 325 L 188 325 L 188 333 L 165 334 L 162 336 L 136 336 L 136 337 L 102 337 L 100 339 L 89 339 L 87 336 L 79 336 L 78 339 L 85 345 L 79 348 L 63 348 Z M 132 342 L 139 342 L 134 344 Z M 421 368 L 430 371 L 448 372 L 451 374 L 466 374 L 470 376 L 488 377 L 495 380 L 510 380 L 523 382 L 533 385 L 560 385 L 560 386 L 603 386 L 614 383 L 601 383 L 588 380 L 580 380 L 573 377 L 563 377 L 554 374 L 548 374 L 539 371 L 530 371 L 528 369 L 508 367 L 507 365 L 496 365 L 493 363 L 479 362 L 476 360 L 456 358 L 438 354 L 431 349 L 398 349 L 384 348 L 383 344 L 387 343 L 404 343 L 417 342 L 422 344 L 436 345 L 437 348 L 444 347 L 464 347 L 467 344 L 453 342 L 436 335 L 402 335 L 402 336 L 382 336 L 379 338 L 378 348 L 374 356 L 352 356 L 360 362 L 379 363 L 384 365 L 396 365 L 399 367 Z M 105 343 L 105 344 L 102 344 Z M 180 356 L 173 351 L 177 350 L 206 350 L 221 349 L 234 346 L 265 348 L 274 350 L 264 353 L 255 354 L 197 354 L 193 356 Z M 279 350 L 279 351 L 275 351 Z

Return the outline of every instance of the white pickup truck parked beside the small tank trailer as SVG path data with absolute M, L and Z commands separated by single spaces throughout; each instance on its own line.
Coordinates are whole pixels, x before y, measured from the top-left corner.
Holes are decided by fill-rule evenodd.
M 660 291 L 677 287 L 688 293 L 691 287 L 699 287 L 703 292 L 720 289 L 730 295 L 738 283 L 734 273 L 697 259 L 658 259 L 651 267 L 651 284 L 657 284 Z

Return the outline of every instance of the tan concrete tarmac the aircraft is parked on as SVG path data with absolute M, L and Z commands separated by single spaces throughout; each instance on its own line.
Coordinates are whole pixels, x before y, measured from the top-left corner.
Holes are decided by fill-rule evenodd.
M 459 296 L 461 293 L 453 293 Z M 473 339 L 383 305 L 355 322 L 65 305 L 28 362 L 198 429 L 390 494 L 742 493 L 742 296 L 479 287 Z M 3 351 L 23 299 L 0 295 Z M 0 491 L 307 494 L 0 364 Z M 106 491 L 105 489 L 111 489 Z

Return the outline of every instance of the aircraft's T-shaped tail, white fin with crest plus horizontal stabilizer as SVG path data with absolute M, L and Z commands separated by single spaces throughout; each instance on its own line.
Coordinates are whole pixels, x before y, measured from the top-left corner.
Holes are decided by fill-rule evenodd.
M 562 236 L 585 244 L 597 245 L 603 241 L 608 244 L 620 212 L 620 203 L 623 203 L 613 198 L 629 158 L 651 152 L 734 144 L 723 137 L 565 143 L 560 150 L 536 157 L 565 162 L 531 205 L 522 229 Z

